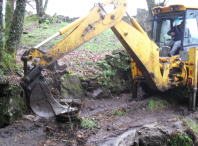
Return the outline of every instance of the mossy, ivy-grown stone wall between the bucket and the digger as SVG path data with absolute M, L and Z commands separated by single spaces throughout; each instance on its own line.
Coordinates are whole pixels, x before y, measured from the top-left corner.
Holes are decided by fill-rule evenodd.
M 112 55 L 99 61 L 95 66 L 103 72 L 97 76 L 78 77 L 65 73 L 61 76 L 62 98 L 111 98 L 111 94 L 131 91 L 130 56 L 125 50 L 114 50 Z

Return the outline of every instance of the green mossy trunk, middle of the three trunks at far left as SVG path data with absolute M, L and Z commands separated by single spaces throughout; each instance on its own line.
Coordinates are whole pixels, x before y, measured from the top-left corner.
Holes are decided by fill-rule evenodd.
M 14 2 L 15 0 L 7 0 L 5 8 L 5 36 L 8 36 L 8 30 L 11 25 L 12 16 L 14 14 Z

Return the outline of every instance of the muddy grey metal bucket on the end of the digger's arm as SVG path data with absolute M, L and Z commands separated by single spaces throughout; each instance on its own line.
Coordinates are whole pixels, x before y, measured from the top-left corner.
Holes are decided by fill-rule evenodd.
M 77 108 L 61 105 L 54 99 L 45 83 L 44 75 L 41 74 L 42 69 L 41 66 L 35 67 L 21 81 L 28 108 L 41 117 L 53 117 L 78 111 Z

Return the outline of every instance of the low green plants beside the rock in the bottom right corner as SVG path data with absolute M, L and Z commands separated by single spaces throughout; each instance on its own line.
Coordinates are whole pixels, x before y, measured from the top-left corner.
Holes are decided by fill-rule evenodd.
M 192 146 L 193 141 L 186 133 L 180 133 L 167 140 L 168 146 Z

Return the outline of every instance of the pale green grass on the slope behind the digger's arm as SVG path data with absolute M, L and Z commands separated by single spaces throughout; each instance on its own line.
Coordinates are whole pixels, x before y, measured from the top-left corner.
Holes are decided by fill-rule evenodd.
M 36 15 L 33 15 L 32 17 L 28 16 L 25 17 L 25 23 L 24 27 L 27 28 L 28 26 L 31 26 L 35 23 L 38 23 L 38 18 Z M 23 34 L 21 38 L 21 43 L 34 47 L 37 44 L 41 43 L 48 37 L 52 36 L 56 32 L 58 32 L 61 28 L 68 25 L 67 22 L 55 23 L 55 24 L 41 24 L 39 27 L 36 27 L 35 29 L 28 31 L 28 34 Z M 47 27 L 45 29 L 44 27 Z M 45 44 L 43 47 L 46 49 L 53 48 L 57 43 L 59 43 L 63 38 L 65 38 L 66 35 L 59 36 L 47 44 Z M 78 49 L 79 50 L 86 50 L 86 51 L 92 51 L 92 52 L 103 52 L 103 51 L 109 51 L 113 49 L 117 49 L 119 47 L 122 47 L 122 44 L 120 41 L 116 38 L 114 33 L 111 29 L 108 29 L 101 33 L 100 35 L 94 37 L 93 39 L 89 40 L 87 43 L 81 45 Z

